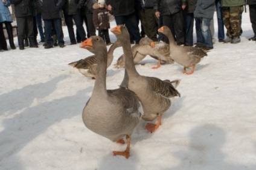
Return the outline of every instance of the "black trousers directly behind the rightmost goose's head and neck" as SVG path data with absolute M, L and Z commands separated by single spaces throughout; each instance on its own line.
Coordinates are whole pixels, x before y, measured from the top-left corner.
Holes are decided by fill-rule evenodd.
M 176 37 L 176 43 L 178 45 L 184 44 L 185 42 L 185 33 L 184 33 L 184 19 L 182 10 L 177 13 L 164 15 L 162 16 L 163 25 L 170 28 L 173 37 Z M 167 37 L 165 36 L 165 42 L 168 42 Z

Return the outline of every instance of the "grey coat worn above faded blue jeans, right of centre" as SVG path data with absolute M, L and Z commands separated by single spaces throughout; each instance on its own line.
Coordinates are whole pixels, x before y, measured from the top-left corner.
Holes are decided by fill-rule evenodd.
M 197 0 L 194 17 L 213 19 L 215 0 Z

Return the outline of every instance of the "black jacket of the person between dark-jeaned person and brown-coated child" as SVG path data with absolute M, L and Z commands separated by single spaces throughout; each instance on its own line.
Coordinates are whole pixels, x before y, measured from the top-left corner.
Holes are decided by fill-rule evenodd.
M 85 4 L 85 0 L 70 0 L 66 1 L 63 7 L 63 12 L 68 15 L 80 13 L 80 8 Z

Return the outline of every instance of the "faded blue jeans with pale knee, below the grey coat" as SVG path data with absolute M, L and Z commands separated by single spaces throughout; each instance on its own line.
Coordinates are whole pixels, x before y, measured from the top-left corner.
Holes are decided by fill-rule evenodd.
M 196 20 L 196 38 L 198 45 L 213 48 L 213 37 L 211 36 L 211 19 L 195 17 Z M 200 26 L 200 27 L 199 27 Z

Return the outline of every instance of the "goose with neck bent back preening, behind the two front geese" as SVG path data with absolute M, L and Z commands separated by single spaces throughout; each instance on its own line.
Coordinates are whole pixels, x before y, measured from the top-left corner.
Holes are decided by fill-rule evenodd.
M 139 41 L 139 45 L 132 46 L 133 63 L 136 65 L 147 55 L 150 55 L 150 57 L 158 60 L 158 65 L 154 66 L 152 69 L 158 69 L 162 61 L 173 64 L 174 61 L 170 58 L 169 48 L 169 45 L 166 43 L 153 42 L 153 40 L 148 37 L 143 37 Z M 124 68 L 124 65 L 124 55 L 121 55 L 114 66 L 115 68 Z

